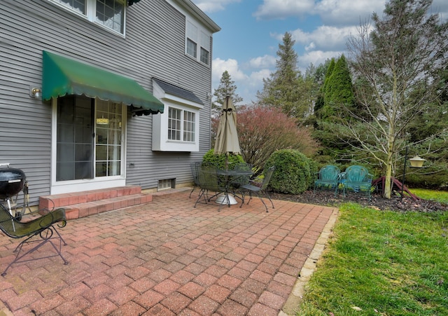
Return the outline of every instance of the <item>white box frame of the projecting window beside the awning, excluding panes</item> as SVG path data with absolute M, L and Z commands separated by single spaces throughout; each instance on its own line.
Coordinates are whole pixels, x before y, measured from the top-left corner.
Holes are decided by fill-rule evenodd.
M 153 81 L 153 95 L 165 105 L 165 110 L 162 114 L 153 116 L 153 151 L 199 151 L 200 110 L 204 108 L 204 105 L 177 97 L 176 95 L 170 95 L 160 88 L 155 81 Z M 180 140 L 169 139 L 169 108 L 181 111 Z M 186 112 L 195 114 L 193 142 L 184 140 Z

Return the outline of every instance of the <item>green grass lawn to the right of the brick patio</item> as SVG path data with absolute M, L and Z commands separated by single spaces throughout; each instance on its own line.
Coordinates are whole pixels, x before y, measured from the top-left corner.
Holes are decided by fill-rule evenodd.
M 448 212 L 342 205 L 297 315 L 448 315 L 447 235 Z

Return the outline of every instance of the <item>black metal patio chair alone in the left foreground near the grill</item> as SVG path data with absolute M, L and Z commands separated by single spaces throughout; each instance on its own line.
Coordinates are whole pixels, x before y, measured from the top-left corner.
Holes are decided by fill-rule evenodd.
M 13 263 L 51 258 L 53 256 L 60 256 L 64 261 L 64 264 L 68 264 L 69 262 L 66 261 L 61 254 L 62 243 L 66 245 L 66 242 L 57 231 L 55 224 L 57 224 L 60 228 L 66 226 L 65 209 L 55 209 L 54 211 L 48 212 L 47 214 L 31 221 L 18 221 L 8 212 L 6 207 L 0 204 L 0 230 L 10 238 L 25 238 L 25 240 L 22 240 L 22 242 L 15 247 L 14 252 L 17 252 L 15 259 L 13 262 L 8 264 L 1 275 L 5 276 L 6 271 L 13 265 Z M 56 235 L 53 235 L 53 233 L 56 233 Z M 32 239 L 34 236 L 38 236 L 40 239 Z M 23 259 L 28 254 L 35 252 L 47 243 L 52 245 L 56 251 L 56 254 L 38 258 Z M 28 244 L 36 245 L 34 245 L 34 247 L 30 246 L 30 249 L 29 247 L 24 247 L 24 245 Z

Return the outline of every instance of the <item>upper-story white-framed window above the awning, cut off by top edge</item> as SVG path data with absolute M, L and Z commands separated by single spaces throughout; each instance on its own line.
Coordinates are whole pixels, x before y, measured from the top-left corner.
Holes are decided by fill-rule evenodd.
M 125 0 L 51 0 L 91 21 L 123 34 Z

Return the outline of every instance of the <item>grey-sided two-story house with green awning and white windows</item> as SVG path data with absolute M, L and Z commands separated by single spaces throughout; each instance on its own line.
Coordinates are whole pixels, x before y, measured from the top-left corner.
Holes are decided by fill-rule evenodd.
M 3 0 L 0 164 L 43 195 L 190 185 L 213 34 L 190 0 Z

